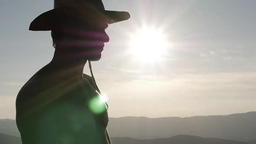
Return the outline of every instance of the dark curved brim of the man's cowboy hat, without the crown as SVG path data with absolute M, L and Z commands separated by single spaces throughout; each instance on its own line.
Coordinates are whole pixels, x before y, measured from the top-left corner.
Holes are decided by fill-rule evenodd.
M 30 31 L 51 31 L 58 27 L 63 20 L 68 17 L 78 17 L 88 22 L 106 22 L 112 24 L 115 22 L 125 21 L 130 19 L 130 14 L 126 11 L 112 11 L 112 10 L 99 10 L 97 16 L 92 15 L 90 12 L 84 13 L 82 11 L 72 11 L 65 8 L 57 8 L 46 11 L 39 15 L 30 24 Z M 94 12 L 95 14 L 95 12 Z

